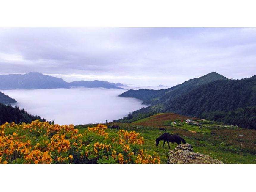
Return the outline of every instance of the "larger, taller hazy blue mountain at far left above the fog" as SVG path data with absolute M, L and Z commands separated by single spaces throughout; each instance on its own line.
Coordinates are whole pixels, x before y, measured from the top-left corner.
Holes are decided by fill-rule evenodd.
M 30 72 L 24 75 L 0 75 L 0 89 L 52 89 L 69 88 L 61 78 Z

